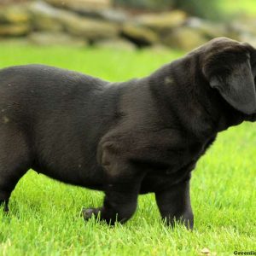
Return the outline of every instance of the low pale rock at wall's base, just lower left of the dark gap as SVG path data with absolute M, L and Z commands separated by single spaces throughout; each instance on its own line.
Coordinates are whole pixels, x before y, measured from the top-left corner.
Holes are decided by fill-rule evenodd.
M 137 49 L 135 44 L 125 40 L 125 39 L 104 39 L 96 42 L 94 44 L 96 47 L 106 48 L 106 49 L 118 49 L 118 50 L 127 50 L 134 51 Z

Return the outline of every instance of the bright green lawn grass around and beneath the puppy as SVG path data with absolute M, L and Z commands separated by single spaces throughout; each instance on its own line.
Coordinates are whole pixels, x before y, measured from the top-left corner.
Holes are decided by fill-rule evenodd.
M 181 53 L 0 45 L 0 67 L 44 63 L 111 81 L 142 77 Z M 103 194 L 28 172 L 0 212 L 0 255 L 199 255 L 203 247 L 232 255 L 255 250 L 256 126 L 230 128 L 200 160 L 191 197 L 195 230 L 160 221 L 154 195 L 141 195 L 131 220 L 113 228 L 79 217 Z

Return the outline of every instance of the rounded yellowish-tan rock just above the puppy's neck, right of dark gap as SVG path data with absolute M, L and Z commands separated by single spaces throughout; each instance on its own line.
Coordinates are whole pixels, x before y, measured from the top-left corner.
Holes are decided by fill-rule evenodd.
M 201 32 L 190 27 L 179 27 L 164 38 L 163 43 L 176 49 L 189 51 L 207 43 Z

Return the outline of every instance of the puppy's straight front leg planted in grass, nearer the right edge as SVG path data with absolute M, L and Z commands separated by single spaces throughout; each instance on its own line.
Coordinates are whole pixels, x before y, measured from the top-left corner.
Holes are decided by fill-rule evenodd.
M 188 229 L 193 229 L 194 216 L 190 204 L 189 179 L 156 192 L 155 198 L 166 224 L 173 226 L 177 221 L 185 224 Z

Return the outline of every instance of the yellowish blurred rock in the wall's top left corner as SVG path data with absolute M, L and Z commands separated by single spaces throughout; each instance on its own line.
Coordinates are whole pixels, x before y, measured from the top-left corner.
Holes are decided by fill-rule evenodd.
M 0 9 L 0 23 L 28 23 L 30 19 L 31 16 L 24 4 L 8 5 Z

